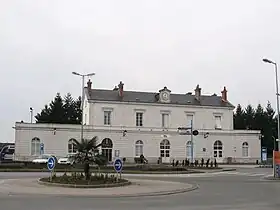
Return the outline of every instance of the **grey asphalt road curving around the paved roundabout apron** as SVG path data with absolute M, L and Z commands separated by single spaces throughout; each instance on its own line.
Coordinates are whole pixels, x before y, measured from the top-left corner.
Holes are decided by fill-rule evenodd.
M 142 177 L 197 183 L 198 190 L 162 197 L 94 199 L 92 197 L 1 195 L 1 209 L 9 210 L 278 210 L 280 183 L 265 181 L 271 169 L 238 169 L 236 172 L 178 177 Z M 42 173 L 0 173 L 0 179 L 45 176 Z M 140 177 L 138 177 L 140 178 Z

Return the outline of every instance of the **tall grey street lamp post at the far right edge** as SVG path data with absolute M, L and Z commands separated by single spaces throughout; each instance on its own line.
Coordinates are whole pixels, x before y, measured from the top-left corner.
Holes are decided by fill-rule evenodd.
M 278 87 L 278 71 L 277 71 L 277 63 L 276 62 L 273 62 L 267 58 L 264 58 L 263 59 L 263 62 L 265 63 L 270 63 L 270 64 L 273 64 L 274 65 L 274 69 L 275 69 L 275 82 L 276 82 L 276 106 L 277 106 L 277 136 L 278 136 L 278 139 L 279 139 L 279 136 L 280 136 L 280 118 L 279 118 L 279 87 Z M 275 142 L 275 141 L 274 141 Z M 275 151 L 275 144 L 274 144 L 274 149 L 273 149 L 273 176 L 275 177 L 276 176 L 276 173 L 275 173 L 275 163 L 274 163 L 274 151 Z

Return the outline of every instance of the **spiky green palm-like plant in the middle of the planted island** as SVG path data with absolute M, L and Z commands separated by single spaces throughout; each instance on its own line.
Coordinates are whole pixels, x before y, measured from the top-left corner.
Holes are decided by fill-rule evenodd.
M 90 163 L 97 164 L 99 168 L 107 164 L 107 158 L 99 154 L 98 148 L 102 144 L 97 144 L 97 136 L 91 140 L 82 139 L 81 142 L 73 139 L 73 144 L 77 148 L 77 153 L 73 156 L 73 160 L 84 165 L 87 180 L 90 178 Z

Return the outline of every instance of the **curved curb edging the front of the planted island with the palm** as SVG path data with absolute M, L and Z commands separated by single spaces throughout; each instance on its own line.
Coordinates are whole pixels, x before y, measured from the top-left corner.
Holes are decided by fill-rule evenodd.
M 125 181 L 122 183 L 114 183 L 114 184 L 99 184 L 99 185 L 76 185 L 76 184 L 59 184 L 59 183 L 52 183 L 52 182 L 45 182 L 38 180 L 38 184 L 46 185 L 46 186 L 53 186 L 53 187 L 65 187 L 65 188 L 109 188 L 109 187 L 124 187 L 131 185 L 130 181 Z

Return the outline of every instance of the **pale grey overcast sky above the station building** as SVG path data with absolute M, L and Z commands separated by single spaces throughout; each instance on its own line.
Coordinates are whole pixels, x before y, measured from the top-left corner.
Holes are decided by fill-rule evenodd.
M 93 88 L 221 94 L 237 105 L 276 102 L 279 0 L 0 0 L 0 142 L 56 92 Z M 275 107 L 275 106 L 274 106 Z

